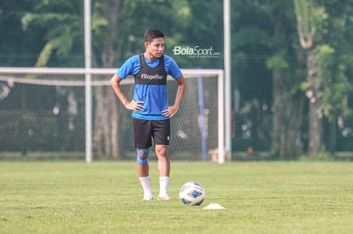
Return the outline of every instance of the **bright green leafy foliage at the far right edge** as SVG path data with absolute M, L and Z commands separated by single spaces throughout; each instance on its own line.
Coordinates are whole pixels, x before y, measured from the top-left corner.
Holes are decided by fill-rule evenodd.
M 330 4 L 334 3 L 322 1 L 319 4 L 321 6 L 311 6 L 312 10 L 309 11 L 307 9 L 310 7 L 309 1 L 298 0 L 296 13 L 299 13 L 303 19 L 307 19 L 315 28 L 313 33 L 315 33 L 316 47 L 313 53 L 316 67 L 308 72 L 316 75 L 319 85 L 318 98 L 321 106 L 318 113 L 321 117 L 325 116 L 332 121 L 338 114 L 349 115 L 352 112 L 342 102 L 344 95 L 353 90 L 345 74 L 352 50 L 348 49 L 350 45 L 346 43 L 344 36 L 347 18 L 345 14 L 340 15 L 337 12 L 337 10 L 342 12 L 346 10 L 339 7 L 332 9 Z M 301 89 L 309 90 L 310 83 L 303 82 Z

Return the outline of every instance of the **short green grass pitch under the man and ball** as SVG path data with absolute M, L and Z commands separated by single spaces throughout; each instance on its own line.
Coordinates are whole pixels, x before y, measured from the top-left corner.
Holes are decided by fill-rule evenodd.
M 200 207 L 179 201 L 188 181 Z M 353 163 L 172 162 L 171 201 L 142 193 L 134 162 L 0 162 L 0 233 L 353 233 Z

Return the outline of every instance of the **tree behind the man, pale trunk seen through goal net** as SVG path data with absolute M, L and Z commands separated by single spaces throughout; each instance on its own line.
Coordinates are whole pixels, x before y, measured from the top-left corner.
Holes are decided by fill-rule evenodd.
M 192 8 L 189 1 L 122 1 L 122 0 L 100 0 L 94 5 L 93 23 L 95 45 L 95 64 L 103 67 L 122 65 L 129 56 L 145 51 L 143 46 L 143 34 L 150 28 L 158 28 L 165 33 L 167 48 L 171 51 L 172 45 L 186 42 L 187 35 L 181 36 L 175 32 L 176 27 L 191 31 L 199 37 L 198 31 L 207 31 L 214 38 L 218 37 L 216 31 L 210 27 L 215 24 L 214 18 L 219 11 L 207 14 L 209 18 L 208 28 L 205 24 L 198 23 L 193 18 L 191 11 L 202 8 L 202 1 L 194 1 L 197 8 Z M 217 1 L 204 6 L 210 9 L 218 9 Z M 212 8 L 213 7 L 213 8 Z M 158 10 L 157 10 L 158 9 Z M 206 16 L 205 16 L 206 17 Z M 192 21 L 193 20 L 193 21 Z M 192 24 L 191 22 L 197 23 Z M 194 38 L 194 37 L 191 37 Z M 216 40 L 215 40 L 216 41 Z M 168 51 L 168 49 L 166 49 Z M 177 60 L 177 59 L 176 59 Z M 180 65 L 182 65 L 181 63 Z M 190 65 L 190 64 L 189 64 Z M 195 65 L 203 65 L 196 63 Z M 207 63 L 206 63 L 207 65 Z M 118 159 L 123 152 L 119 149 L 119 132 L 121 125 L 117 124 L 120 113 L 117 105 L 121 105 L 114 92 L 108 87 L 94 89 L 96 111 L 94 125 L 94 145 L 97 157 L 100 155 L 112 155 Z M 128 97 L 132 98 L 132 97 Z M 108 107 L 108 108 L 107 108 Z

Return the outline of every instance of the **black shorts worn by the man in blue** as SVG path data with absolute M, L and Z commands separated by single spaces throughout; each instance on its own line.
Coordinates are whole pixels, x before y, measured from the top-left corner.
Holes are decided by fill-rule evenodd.
M 170 119 L 144 120 L 133 118 L 134 147 L 149 148 L 154 145 L 169 145 Z

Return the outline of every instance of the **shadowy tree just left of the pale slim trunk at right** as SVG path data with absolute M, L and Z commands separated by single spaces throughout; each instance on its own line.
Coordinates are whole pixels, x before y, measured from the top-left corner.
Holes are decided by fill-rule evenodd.
M 273 55 L 267 59 L 272 70 L 272 143 L 271 153 L 280 159 L 295 159 L 301 155 L 302 116 L 305 99 L 300 89 L 303 62 L 299 51 L 292 47 L 293 9 L 283 1 L 266 1 L 273 29 Z M 293 59 L 297 58 L 297 59 Z

